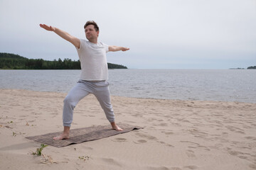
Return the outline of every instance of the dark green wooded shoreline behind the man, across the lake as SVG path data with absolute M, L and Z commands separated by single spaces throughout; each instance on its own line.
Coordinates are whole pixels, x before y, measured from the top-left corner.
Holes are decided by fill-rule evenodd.
M 109 69 L 127 69 L 120 64 L 107 63 Z M 20 55 L 0 52 L 0 69 L 81 69 L 80 61 L 70 59 L 47 61 L 28 59 Z

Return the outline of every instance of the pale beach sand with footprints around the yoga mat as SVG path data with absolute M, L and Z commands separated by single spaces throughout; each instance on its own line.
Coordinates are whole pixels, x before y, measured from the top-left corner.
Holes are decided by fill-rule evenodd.
M 256 169 L 256 103 L 112 96 L 117 125 L 143 129 L 32 155 L 41 143 L 25 137 L 63 130 L 65 95 L 0 89 L 1 169 Z M 71 128 L 92 125 L 109 123 L 89 95 Z

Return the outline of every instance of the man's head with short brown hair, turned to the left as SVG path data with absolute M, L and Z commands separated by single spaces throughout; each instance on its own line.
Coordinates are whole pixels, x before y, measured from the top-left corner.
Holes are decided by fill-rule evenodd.
M 93 43 L 97 43 L 97 37 L 100 33 L 97 23 L 95 23 L 95 21 L 87 21 L 87 23 L 85 23 L 84 28 L 87 40 Z

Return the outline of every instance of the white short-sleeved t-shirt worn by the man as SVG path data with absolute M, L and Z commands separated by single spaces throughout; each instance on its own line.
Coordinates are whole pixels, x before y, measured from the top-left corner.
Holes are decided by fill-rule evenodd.
M 88 81 L 108 79 L 106 56 L 108 45 L 80 39 L 80 48 L 77 50 L 82 71 L 80 79 Z

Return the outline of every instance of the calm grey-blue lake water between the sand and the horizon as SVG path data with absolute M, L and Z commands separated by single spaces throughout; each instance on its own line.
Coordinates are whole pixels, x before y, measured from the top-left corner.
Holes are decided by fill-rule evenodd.
M 68 93 L 80 70 L 0 70 L 1 89 Z M 114 96 L 256 103 L 254 69 L 110 69 Z

